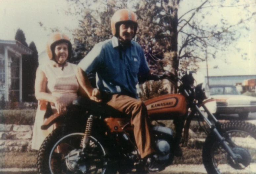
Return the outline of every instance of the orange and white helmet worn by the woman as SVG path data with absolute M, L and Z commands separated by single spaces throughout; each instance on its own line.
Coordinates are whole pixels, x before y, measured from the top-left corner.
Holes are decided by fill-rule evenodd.
M 50 36 L 48 42 L 47 42 L 47 46 L 46 46 L 46 51 L 47 51 L 47 54 L 49 56 L 49 58 L 52 60 L 55 60 L 55 46 L 59 43 L 67 43 L 68 44 L 68 58 L 67 60 L 71 57 L 71 53 L 72 53 L 72 45 L 71 45 L 71 42 L 68 38 L 67 35 L 65 34 L 61 34 L 61 33 L 55 33 L 53 34 L 52 36 Z

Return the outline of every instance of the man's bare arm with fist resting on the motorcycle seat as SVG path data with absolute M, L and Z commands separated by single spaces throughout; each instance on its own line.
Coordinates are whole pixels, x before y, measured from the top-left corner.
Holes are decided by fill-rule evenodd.
M 89 81 L 89 78 L 86 72 L 84 72 L 79 66 L 77 67 L 76 77 L 81 87 L 81 90 L 84 90 L 91 100 L 94 100 L 96 102 L 101 102 L 101 96 L 100 96 L 99 90 L 91 86 L 91 83 Z

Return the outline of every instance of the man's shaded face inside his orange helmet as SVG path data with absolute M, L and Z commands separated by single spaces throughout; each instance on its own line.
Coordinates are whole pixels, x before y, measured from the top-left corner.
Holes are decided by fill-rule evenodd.
M 134 24 L 133 23 L 123 23 L 119 28 L 119 36 L 124 41 L 131 40 L 134 35 Z

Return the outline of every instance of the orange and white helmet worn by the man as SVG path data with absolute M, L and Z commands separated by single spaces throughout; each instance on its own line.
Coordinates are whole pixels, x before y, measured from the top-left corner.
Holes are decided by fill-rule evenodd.
M 134 12 L 128 9 L 121 9 L 114 13 L 111 18 L 111 30 L 114 36 L 119 36 L 119 27 L 122 23 L 125 22 L 132 22 L 134 23 L 134 36 L 137 31 L 138 23 L 137 23 L 137 16 Z M 133 36 L 133 37 L 134 37 Z

